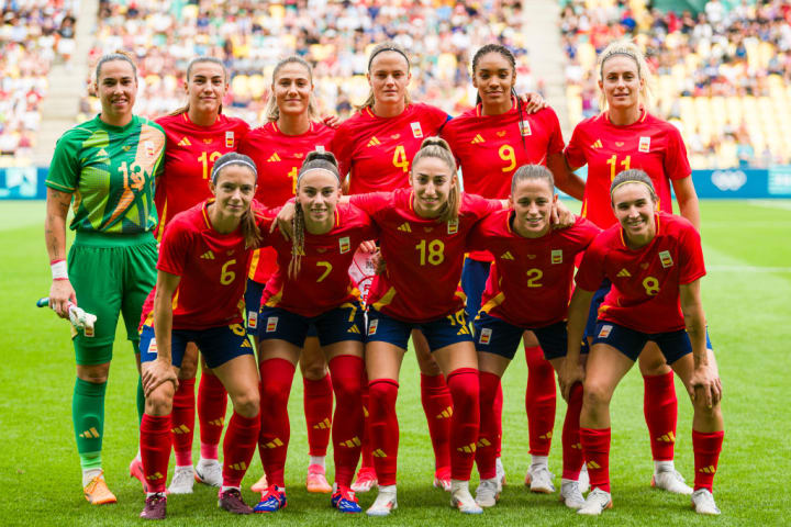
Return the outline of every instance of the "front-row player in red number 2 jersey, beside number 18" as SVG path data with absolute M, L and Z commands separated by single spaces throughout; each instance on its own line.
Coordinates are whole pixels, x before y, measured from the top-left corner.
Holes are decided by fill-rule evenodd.
M 523 165 L 513 175 L 510 209 L 483 218 L 468 238 L 470 248 L 487 248 L 494 255 L 475 319 L 481 390 L 481 429 L 476 450 L 481 482 L 476 502 L 482 507 L 493 506 L 500 495 L 495 470 L 495 397 L 500 379 L 525 329 L 535 333 L 546 360 L 555 371 L 560 370 L 566 356 L 566 317 L 575 259 L 599 234 L 599 228 L 581 216 L 568 228 L 553 229 L 552 209 L 557 201 L 554 190 L 553 175 L 546 167 Z M 582 389 L 577 388 L 562 430 L 560 497 L 572 508 L 579 508 L 584 501 L 578 483 L 582 452 L 576 448 Z

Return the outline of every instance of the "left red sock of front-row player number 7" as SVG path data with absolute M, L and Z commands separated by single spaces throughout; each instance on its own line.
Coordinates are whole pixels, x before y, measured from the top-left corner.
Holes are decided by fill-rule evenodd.
M 286 359 L 269 359 L 261 362 L 258 370 L 260 400 L 266 402 L 267 407 L 266 412 L 260 413 L 258 453 L 269 484 L 286 486 L 283 470 L 291 438 L 288 397 L 291 394 L 296 368 Z

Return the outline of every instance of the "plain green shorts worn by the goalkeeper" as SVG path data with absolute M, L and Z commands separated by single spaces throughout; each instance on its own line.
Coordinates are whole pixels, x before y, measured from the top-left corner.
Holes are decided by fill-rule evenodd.
M 151 233 L 77 233 L 68 256 L 69 280 L 77 305 L 97 316 L 92 335 L 73 329 L 78 365 L 110 362 L 119 313 L 127 338 L 140 340 L 137 326 L 143 302 L 156 285 L 156 261 Z

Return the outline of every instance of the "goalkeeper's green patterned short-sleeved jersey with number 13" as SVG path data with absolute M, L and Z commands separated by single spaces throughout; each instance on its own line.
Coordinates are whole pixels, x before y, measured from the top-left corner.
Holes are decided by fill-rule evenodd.
M 55 146 L 46 186 L 74 194 L 78 232 L 140 234 L 157 223 L 154 183 L 163 170 L 165 132 L 134 115 L 112 126 L 97 115 L 66 132 Z

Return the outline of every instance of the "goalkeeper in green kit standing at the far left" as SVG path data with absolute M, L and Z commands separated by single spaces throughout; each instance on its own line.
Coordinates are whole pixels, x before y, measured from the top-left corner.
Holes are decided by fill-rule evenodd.
M 53 267 L 49 305 L 68 316 L 68 303 L 97 315 L 93 332 L 73 343 L 77 379 L 73 421 L 82 468 L 85 497 L 114 503 L 102 475 L 104 392 L 115 326 L 123 314 L 126 334 L 137 350 L 136 323 L 156 280 L 154 182 L 161 168 L 165 134 L 132 113 L 137 69 L 129 56 L 104 55 L 93 88 L 101 113 L 66 132 L 57 143 L 47 175 L 45 239 Z M 73 201 L 74 198 L 74 201 Z M 66 216 L 75 243 L 66 257 Z M 68 261 L 65 261 L 67 258 Z M 142 413 L 138 385 L 138 411 Z

